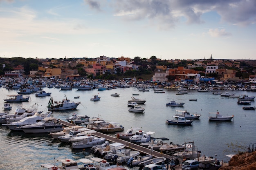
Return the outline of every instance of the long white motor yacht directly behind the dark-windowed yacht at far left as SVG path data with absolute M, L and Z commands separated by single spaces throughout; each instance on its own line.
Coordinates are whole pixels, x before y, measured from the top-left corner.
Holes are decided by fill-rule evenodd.
M 7 123 L 6 126 L 10 130 L 22 130 L 20 128 L 21 126 L 25 126 L 28 124 L 35 124 L 38 121 L 41 121 L 46 117 L 50 117 L 51 114 L 52 114 L 51 111 L 47 111 L 45 113 L 37 113 L 36 112 L 33 116 L 25 117 L 25 118 L 21 119 L 20 121 L 14 121 L 14 122 Z

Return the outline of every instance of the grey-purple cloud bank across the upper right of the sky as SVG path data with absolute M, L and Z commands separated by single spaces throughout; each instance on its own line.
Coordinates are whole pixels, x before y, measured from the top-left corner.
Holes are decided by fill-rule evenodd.
M 175 26 L 182 18 L 187 24 L 202 24 L 204 13 L 216 12 L 221 20 L 233 25 L 256 22 L 255 0 L 112 0 L 114 16 L 124 20 L 148 20 Z

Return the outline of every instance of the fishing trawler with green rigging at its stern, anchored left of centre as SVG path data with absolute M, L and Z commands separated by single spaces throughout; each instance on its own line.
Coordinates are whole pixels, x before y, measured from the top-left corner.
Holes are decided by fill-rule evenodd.
M 66 95 L 65 95 L 66 97 Z M 81 102 L 70 101 L 70 99 L 63 99 L 61 102 L 54 102 L 52 97 L 48 102 L 48 111 L 58 111 L 58 110 L 70 110 L 76 109 Z

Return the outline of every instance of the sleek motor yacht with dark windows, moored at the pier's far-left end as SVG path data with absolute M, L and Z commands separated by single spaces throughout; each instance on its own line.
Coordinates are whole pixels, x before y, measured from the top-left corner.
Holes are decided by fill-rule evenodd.
M 63 130 L 63 125 L 53 117 L 46 117 L 36 124 L 29 124 L 20 127 L 25 133 L 44 133 Z

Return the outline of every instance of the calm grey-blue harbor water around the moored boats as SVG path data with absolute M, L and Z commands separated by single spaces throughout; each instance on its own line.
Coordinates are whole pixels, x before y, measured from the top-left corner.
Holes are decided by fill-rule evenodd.
M 249 147 L 256 142 L 256 110 L 243 110 L 243 105 L 238 105 L 236 98 L 221 97 L 211 92 L 199 93 L 195 90 L 189 90 L 189 93 L 184 95 L 176 95 L 176 89 L 164 89 L 165 93 L 154 93 L 153 88 L 148 92 L 139 92 L 135 87 L 106 91 L 97 91 L 97 89 L 77 91 L 76 88 L 63 91 L 47 87 L 43 90 L 52 92 L 51 96 L 55 101 L 61 101 L 66 96 L 67 99 L 81 102 L 76 110 L 54 111 L 52 116 L 57 119 L 65 120 L 73 113 L 89 117 L 101 116 L 106 121 L 120 123 L 125 127 L 124 132 L 129 128 L 139 127 L 145 132 L 155 132 L 154 137 L 166 137 L 174 144 L 194 141 L 196 149 L 200 150 L 202 155 L 216 157 L 223 161 L 229 161 L 229 157 L 225 155 L 236 154 L 228 144 Z M 0 106 L 4 106 L 3 99 L 7 95 L 16 95 L 17 91 L 1 87 Z M 119 93 L 120 96 L 112 97 L 110 96 L 112 93 Z M 136 98 L 146 99 L 146 103 L 142 105 L 145 108 L 144 113 L 128 112 L 127 103 L 132 93 L 139 94 L 134 96 Z M 229 93 L 256 96 L 256 92 L 252 91 L 229 91 Z M 9 113 L 14 113 L 17 106 L 29 108 L 33 104 L 38 104 L 38 110 L 47 111 L 50 96 L 36 97 L 35 93 L 29 95 L 29 102 L 11 103 L 13 109 Z M 99 95 L 101 99 L 96 102 L 90 101 L 92 95 Z M 76 96 L 80 98 L 74 99 Z M 197 99 L 197 101 L 189 101 L 189 99 Z M 166 103 L 172 100 L 185 104 L 183 107 L 166 106 Z M 255 101 L 252 101 L 251 106 L 255 105 Z M 192 126 L 166 124 L 166 119 L 172 119 L 175 110 L 187 110 L 202 116 L 199 120 L 194 120 Z M 228 122 L 209 121 L 209 112 L 217 112 L 217 110 L 223 116 L 234 115 L 234 119 Z M 109 135 L 115 136 L 115 133 Z M 11 131 L 4 126 L 0 126 L 0 142 L 0 170 L 7 170 L 10 167 L 17 170 L 41 170 L 40 164 L 54 163 L 54 159 L 77 160 L 93 156 L 88 150 L 73 150 L 71 145 L 53 140 L 47 134 L 25 134 Z M 227 150 L 230 152 L 226 152 Z

